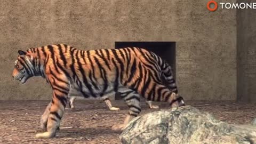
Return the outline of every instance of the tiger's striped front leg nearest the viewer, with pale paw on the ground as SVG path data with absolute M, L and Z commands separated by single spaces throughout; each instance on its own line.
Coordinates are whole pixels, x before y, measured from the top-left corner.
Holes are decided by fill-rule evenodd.
M 49 113 L 46 126 L 47 132 L 36 134 L 36 138 L 55 137 L 55 134 L 60 126 L 61 117 L 63 116 L 67 104 L 69 85 L 66 83 L 59 83 L 57 85 L 54 79 L 51 85 L 53 88 L 53 97 L 51 104 L 48 105 L 50 107 L 49 112 L 45 112 L 46 114 Z

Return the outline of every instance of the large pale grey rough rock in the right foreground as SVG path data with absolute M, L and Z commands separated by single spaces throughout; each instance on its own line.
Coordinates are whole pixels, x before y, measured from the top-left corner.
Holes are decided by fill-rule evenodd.
M 230 125 L 185 106 L 134 118 L 122 132 L 122 143 L 256 143 L 255 126 Z

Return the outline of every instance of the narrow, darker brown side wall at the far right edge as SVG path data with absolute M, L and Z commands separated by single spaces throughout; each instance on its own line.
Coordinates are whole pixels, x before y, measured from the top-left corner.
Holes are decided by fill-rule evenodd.
M 256 3 L 253 1 L 239 1 Z M 237 97 L 256 102 L 256 14 L 255 10 L 237 10 Z

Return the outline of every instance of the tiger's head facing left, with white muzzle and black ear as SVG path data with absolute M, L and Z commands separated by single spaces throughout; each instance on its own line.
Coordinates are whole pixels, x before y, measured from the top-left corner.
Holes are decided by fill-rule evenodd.
M 34 67 L 28 52 L 19 50 L 18 53 L 18 58 L 14 62 L 12 77 L 24 84 L 28 78 L 34 76 Z

